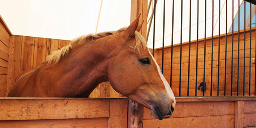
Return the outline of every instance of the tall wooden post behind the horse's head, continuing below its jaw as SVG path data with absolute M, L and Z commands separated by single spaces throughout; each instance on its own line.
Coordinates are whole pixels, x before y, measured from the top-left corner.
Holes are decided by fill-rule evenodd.
M 140 33 L 146 38 L 147 33 L 147 0 L 131 0 L 131 23 L 141 13 L 139 24 L 143 22 Z M 129 99 L 127 128 L 143 128 L 143 106 Z

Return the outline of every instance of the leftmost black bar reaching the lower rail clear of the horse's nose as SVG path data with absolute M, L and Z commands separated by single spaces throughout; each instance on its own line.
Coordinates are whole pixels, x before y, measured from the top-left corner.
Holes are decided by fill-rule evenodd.
M 181 95 L 181 61 L 182 61 L 182 13 L 183 13 L 183 0 L 181 0 L 181 25 L 180 25 L 180 85 L 179 85 L 179 96 Z

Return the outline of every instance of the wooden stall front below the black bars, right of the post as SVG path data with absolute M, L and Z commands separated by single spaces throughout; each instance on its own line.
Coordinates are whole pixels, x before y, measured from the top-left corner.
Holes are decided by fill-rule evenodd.
M 144 128 L 256 128 L 255 97 L 177 97 L 171 118 L 144 109 Z

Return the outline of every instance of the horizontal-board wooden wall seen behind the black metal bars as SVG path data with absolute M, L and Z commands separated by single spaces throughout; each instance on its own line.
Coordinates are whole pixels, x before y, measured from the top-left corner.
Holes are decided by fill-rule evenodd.
M 243 67 L 244 67 L 244 31 L 240 31 L 240 48 L 239 48 L 239 95 L 243 92 Z M 254 95 L 255 83 L 255 28 L 252 29 L 252 45 L 251 45 L 251 94 Z M 249 92 L 249 55 L 250 55 L 250 32 L 246 30 L 246 47 L 245 47 L 245 93 Z M 238 32 L 234 32 L 233 45 L 233 95 L 236 95 L 237 90 L 237 63 L 238 63 Z M 206 40 L 206 71 L 205 81 L 206 96 L 210 95 L 211 82 L 211 58 L 212 58 L 212 38 Z M 230 95 L 231 89 L 231 56 L 232 56 L 232 33 L 227 34 L 227 95 Z M 164 69 L 163 74 L 166 80 L 170 83 L 171 70 L 171 51 L 172 47 L 168 46 L 164 49 Z M 189 44 L 185 42 L 182 44 L 182 71 L 181 71 L 181 96 L 187 95 L 188 86 L 188 56 Z M 162 67 L 162 49 L 156 49 L 155 58 L 160 68 Z M 225 73 L 225 34 L 220 37 L 220 76 L 219 76 L 219 90 L 220 95 L 224 95 L 224 73 Z M 212 95 L 217 95 L 218 85 L 218 36 L 213 39 L 213 77 L 212 77 Z M 189 96 L 195 96 L 195 74 L 196 74 L 196 41 L 191 41 L 191 55 L 190 55 L 190 78 L 189 78 Z M 180 78 L 180 45 L 173 46 L 173 67 L 172 67 L 172 90 L 175 96 L 179 95 L 179 78 Z M 203 82 L 204 75 L 204 39 L 198 42 L 198 84 Z M 197 91 L 198 96 L 202 96 L 202 91 Z

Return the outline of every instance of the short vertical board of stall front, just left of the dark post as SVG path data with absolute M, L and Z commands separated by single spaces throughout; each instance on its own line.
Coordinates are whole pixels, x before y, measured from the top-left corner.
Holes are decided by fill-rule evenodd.
M 127 128 L 128 99 L 110 99 L 109 128 Z

